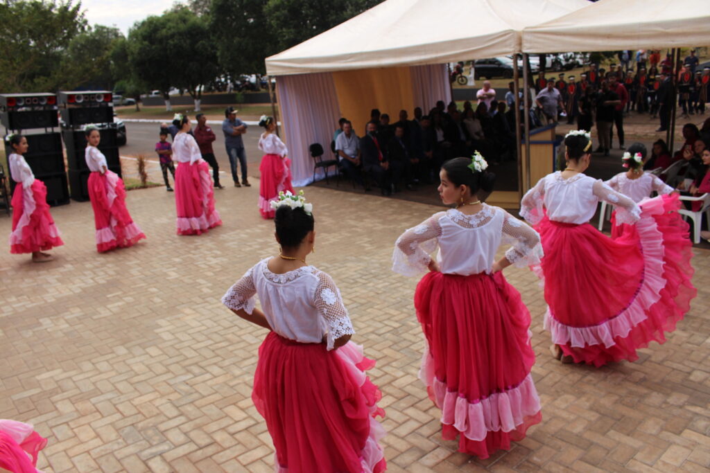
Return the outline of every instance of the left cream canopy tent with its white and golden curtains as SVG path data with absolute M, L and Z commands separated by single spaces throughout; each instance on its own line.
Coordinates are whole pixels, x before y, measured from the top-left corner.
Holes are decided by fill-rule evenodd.
M 327 148 L 339 116 L 361 133 L 371 108 L 397 116 L 451 100 L 445 63 L 520 52 L 520 33 L 586 0 L 386 0 L 266 59 L 293 182 L 312 182 L 310 143 Z M 558 50 L 567 50 L 564 43 Z

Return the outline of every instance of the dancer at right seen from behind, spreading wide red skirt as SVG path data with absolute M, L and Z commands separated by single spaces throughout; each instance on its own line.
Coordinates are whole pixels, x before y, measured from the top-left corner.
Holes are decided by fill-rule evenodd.
M 564 139 L 567 167 L 540 179 L 520 214 L 536 225 L 545 258 L 545 328 L 553 355 L 596 367 L 638 359 L 636 350 L 665 342 L 696 295 L 688 226 L 675 194 L 640 206 L 584 175 L 591 138 Z M 635 223 L 616 240 L 589 225 L 599 201 L 616 206 L 616 223 Z M 544 204 L 544 209 L 543 209 Z

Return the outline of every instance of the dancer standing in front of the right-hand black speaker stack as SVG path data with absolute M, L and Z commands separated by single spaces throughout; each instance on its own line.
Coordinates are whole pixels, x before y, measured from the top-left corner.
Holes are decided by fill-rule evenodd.
M 146 238 L 133 223 L 126 208 L 126 188 L 115 172 L 109 170 L 106 157 L 97 146 L 101 141 L 99 130 L 87 127 L 87 148 L 84 158 L 91 171 L 89 174 L 89 199 L 94 208 L 96 223 L 96 249 L 99 253 L 116 247 L 127 248 Z

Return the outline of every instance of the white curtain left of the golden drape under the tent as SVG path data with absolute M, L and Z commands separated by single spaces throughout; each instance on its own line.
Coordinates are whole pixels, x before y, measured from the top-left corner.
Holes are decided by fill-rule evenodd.
M 320 143 L 323 158 L 332 159 L 330 142 L 340 118 L 332 76 L 329 72 L 280 76 L 278 101 L 293 185 L 307 186 L 313 182 L 313 159 L 308 147 Z M 328 172 L 332 171 L 330 168 Z

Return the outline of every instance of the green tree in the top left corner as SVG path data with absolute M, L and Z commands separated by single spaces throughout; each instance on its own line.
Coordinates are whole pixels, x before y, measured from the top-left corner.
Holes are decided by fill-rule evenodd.
M 86 28 L 80 2 L 6 0 L 0 4 L 0 90 L 56 91 L 76 84 L 64 62 Z

